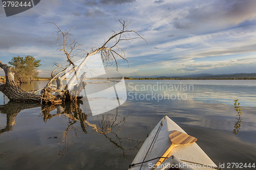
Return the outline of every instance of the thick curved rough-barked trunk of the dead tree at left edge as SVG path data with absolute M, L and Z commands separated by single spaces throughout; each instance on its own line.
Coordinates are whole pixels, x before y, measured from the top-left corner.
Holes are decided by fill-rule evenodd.
M 0 91 L 2 91 L 10 101 L 15 102 L 41 102 L 41 96 L 31 94 L 21 89 L 14 81 L 14 74 L 11 67 L 0 61 L 0 67 L 5 71 L 6 83 L 0 83 Z

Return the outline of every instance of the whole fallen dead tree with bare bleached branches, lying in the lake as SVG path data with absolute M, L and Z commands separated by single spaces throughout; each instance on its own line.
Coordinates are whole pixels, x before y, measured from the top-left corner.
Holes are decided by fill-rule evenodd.
M 100 54 L 102 62 L 105 66 L 109 66 L 112 64 L 116 65 L 116 69 L 118 70 L 118 60 L 129 61 L 125 58 L 125 52 L 123 48 L 119 46 L 122 41 L 132 41 L 134 39 L 143 39 L 136 30 L 128 30 L 127 26 L 130 24 L 127 20 L 119 19 L 121 24 L 121 29 L 119 32 L 113 31 L 113 35 L 106 40 L 101 47 L 94 47 L 90 53 L 86 53 L 83 58 L 81 58 L 81 62 L 79 65 L 76 65 L 74 61 L 72 61 L 72 57 L 74 56 L 73 52 L 76 50 L 81 50 L 81 44 L 78 44 L 76 41 L 72 41 L 69 37 L 69 31 L 62 31 L 56 23 L 52 23 L 56 28 L 56 33 L 58 34 L 58 40 L 61 40 L 59 45 L 59 51 L 63 52 L 67 58 L 68 64 L 65 66 L 61 66 L 60 64 L 54 63 L 56 68 L 52 71 L 52 79 L 48 82 L 46 87 L 42 90 L 40 95 L 33 93 L 29 93 L 20 89 L 16 83 L 14 82 L 13 73 L 11 71 L 11 67 L 6 64 L 0 63 L 0 67 L 5 70 L 6 73 L 6 84 L 0 85 L 0 90 L 6 94 L 6 96 L 12 101 L 21 101 L 21 102 L 41 102 L 45 104 L 60 104 L 67 101 L 77 101 L 79 96 L 77 94 L 80 93 L 82 88 L 84 88 L 84 78 L 85 73 L 80 76 L 80 81 L 78 84 L 74 86 L 74 82 L 77 80 L 77 75 L 80 75 L 82 67 L 86 65 L 87 60 L 90 56 L 95 54 Z M 81 50 L 83 51 L 83 50 Z M 69 69 L 68 69 L 69 68 Z M 71 68 L 71 69 L 70 69 Z M 57 71 L 61 69 L 60 71 Z M 55 73 L 55 76 L 53 76 Z M 73 75 L 70 80 L 67 82 L 65 86 L 63 86 L 63 80 L 68 76 Z M 52 84 L 53 80 L 56 79 L 57 85 Z M 74 86 L 74 88 L 69 91 L 69 87 Z M 54 93 L 55 92 L 55 93 Z M 54 93 L 54 95 L 53 95 Z

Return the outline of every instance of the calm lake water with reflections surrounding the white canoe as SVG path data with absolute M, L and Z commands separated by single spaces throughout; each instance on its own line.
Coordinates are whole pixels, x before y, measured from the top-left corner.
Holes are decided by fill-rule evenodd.
M 22 88 L 38 89 L 46 83 Z M 8 103 L 0 92 L 0 168 L 127 169 L 164 115 L 197 137 L 217 165 L 256 164 L 255 80 L 125 80 L 125 84 L 126 102 L 96 116 L 87 111 L 86 99 L 83 104 L 41 107 Z M 235 99 L 243 113 L 237 135 L 232 133 L 238 117 Z

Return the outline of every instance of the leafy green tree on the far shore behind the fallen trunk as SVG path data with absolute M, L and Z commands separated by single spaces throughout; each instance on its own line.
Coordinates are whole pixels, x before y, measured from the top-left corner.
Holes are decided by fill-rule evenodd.
M 33 56 L 13 57 L 9 64 L 13 67 L 15 79 L 20 83 L 33 81 L 38 75 L 37 67 L 41 65 L 40 60 L 36 60 Z

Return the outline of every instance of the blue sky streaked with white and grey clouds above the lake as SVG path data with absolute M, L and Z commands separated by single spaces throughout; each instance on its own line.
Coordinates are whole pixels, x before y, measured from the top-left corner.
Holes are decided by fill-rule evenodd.
M 32 55 L 41 60 L 40 77 L 50 77 L 54 62 L 67 64 L 58 51 L 57 31 L 70 30 L 70 38 L 90 52 L 112 31 L 119 18 L 131 21 L 146 42 L 121 43 L 127 60 L 119 62 L 126 77 L 233 74 L 256 72 L 255 0 L 41 0 L 35 7 L 6 17 L 0 7 L 0 60 Z M 131 35 L 132 36 L 132 35 Z M 77 52 L 73 60 L 83 54 Z M 115 66 L 108 68 L 116 73 Z M 3 70 L 0 70 L 3 76 Z

